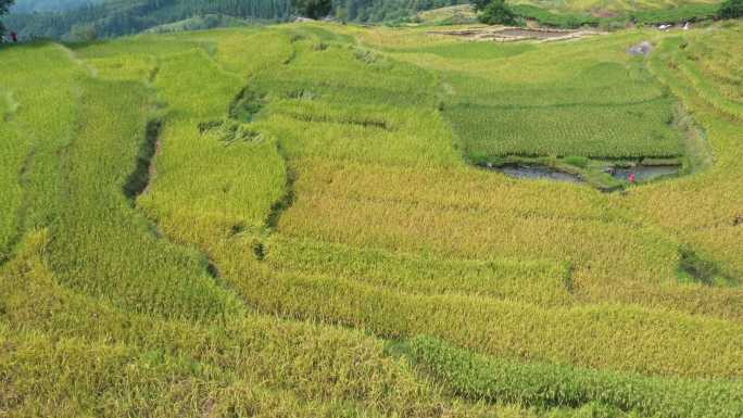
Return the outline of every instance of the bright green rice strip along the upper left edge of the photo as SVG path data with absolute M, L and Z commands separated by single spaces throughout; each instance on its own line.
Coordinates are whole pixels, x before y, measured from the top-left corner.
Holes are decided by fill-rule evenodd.
M 7 261 L 23 232 L 48 213 L 47 205 L 27 190 L 51 191 L 55 180 L 37 176 L 53 172 L 54 152 L 71 140 L 77 117 L 74 79 L 80 71 L 54 45 L 39 43 L 27 50 L 0 51 L 3 63 L 15 68 L 3 77 L 5 111 L 0 123 L 0 263 Z M 58 103 L 47 109 L 49 103 Z M 47 166 L 48 165 L 48 166 Z

